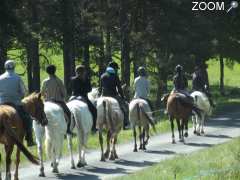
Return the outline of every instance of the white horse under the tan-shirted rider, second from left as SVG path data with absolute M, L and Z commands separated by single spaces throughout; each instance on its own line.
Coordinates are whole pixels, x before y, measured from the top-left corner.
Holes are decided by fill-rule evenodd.
M 38 155 L 40 158 L 40 174 L 44 177 L 43 165 L 43 139 L 45 135 L 46 154 L 51 159 L 51 165 L 54 173 L 58 173 L 58 164 L 62 155 L 64 135 L 67 131 L 67 124 L 64 118 L 63 109 L 53 103 L 45 102 L 44 111 L 48 119 L 48 125 L 42 127 L 33 121 L 33 128 L 36 135 L 36 142 L 38 147 Z

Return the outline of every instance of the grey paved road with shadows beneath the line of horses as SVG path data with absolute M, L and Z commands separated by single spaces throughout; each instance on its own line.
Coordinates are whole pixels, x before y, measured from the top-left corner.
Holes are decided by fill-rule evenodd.
M 117 176 L 126 175 L 154 165 L 176 154 L 191 153 L 203 148 L 212 147 L 224 143 L 234 137 L 240 136 L 240 112 L 233 112 L 219 117 L 213 117 L 207 122 L 206 135 L 195 136 L 192 129 L 189 130 L 190 137 L 186 144 L 177 142 L 171 144 L 171 134 L 161 134 L 151 137 L 146 152 L 134 153 L 133 143 L 119 145 L 117 152 L 120 157 L 115 162 L 100 162 L 100 151 L 89 151 L 86 155 L 88 166 L 82 169 L 71 170 L 70 158 L 64 158 L 60 162 L 60 174 L 51 172 L 50 164 L 45 164 L 46 178 L 38 178 L 38 167 L 29 166 L 20 169 L 22 180 L 53 180 L 53 179 L 112 179 Z M 176 134 L 178 135 L 178 134 Z M 177 136 L 176 136 L 177 137 Z M 77 158 L 75 158 L 75 161 Z

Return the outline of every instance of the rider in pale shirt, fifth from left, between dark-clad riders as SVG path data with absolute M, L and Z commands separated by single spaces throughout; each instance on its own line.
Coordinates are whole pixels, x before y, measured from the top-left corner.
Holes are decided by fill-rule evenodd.
M 150 83 L 147 79 L 146 70 L 144 67 L 138 68 L 138 77 L 134 80 L 134 89 L 135 89 L 135 95 L 134 98 L 141 98 L 148 102 L 151 110 L 153 110 L 153 106 L 151 101 L 148 99 L 148 94 L 150 90 Z

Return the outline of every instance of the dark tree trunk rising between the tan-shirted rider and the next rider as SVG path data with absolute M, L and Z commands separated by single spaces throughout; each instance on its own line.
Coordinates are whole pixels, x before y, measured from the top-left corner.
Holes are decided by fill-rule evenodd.
M 62 1 L 63 11 L 63 65 L 64 65 L 64 83 L 68 95 L 71 94 L 70 78 L 74 75 L 74 22 L 73 22 L 73 4 L 72 1 Z

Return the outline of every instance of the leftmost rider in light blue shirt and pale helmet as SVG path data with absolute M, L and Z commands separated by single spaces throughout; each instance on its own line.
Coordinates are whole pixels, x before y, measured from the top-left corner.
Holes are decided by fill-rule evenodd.
M 33 146 L 32 118 L 24 109 L 21 99 L 26 94 L 26 88 L 19 75 L 15 73 L 15 62 L 7 60 L 4 64 L 6 72 L 0 76 L 0 104 L 14 107 L 23 121 L 26 129 L 25 139 L 28 146 Z

